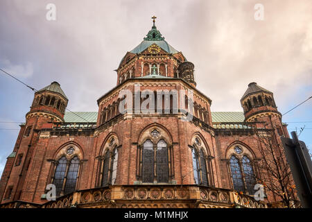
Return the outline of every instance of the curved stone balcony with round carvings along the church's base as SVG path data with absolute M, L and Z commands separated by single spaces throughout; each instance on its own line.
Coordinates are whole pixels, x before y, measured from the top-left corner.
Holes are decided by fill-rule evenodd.
M 266 208 L 229 189 L 198 185 L 114 185 L 75 191 L 43 205 L 17 201 L 0 207 L 40 208 Z

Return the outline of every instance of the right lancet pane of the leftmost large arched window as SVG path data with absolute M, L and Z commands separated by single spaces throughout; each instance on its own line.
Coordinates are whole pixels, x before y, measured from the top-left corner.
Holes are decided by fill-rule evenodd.
M 69 165 L 64 194 L 69 194 L 76 190 L 78 169 L 79 169 L 79 159 L 76 156 L 73 157 L 73 159 L 71 159 L 71 163 Z

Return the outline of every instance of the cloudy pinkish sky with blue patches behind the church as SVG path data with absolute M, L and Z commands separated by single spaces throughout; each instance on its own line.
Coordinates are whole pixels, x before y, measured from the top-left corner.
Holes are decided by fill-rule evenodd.
M 55 21 L 46 19 L 48 3 Z M 254 9 L 263 6 L 263 20 Z M 116 69 L 153 25 L 195 65 L 211 111 L 243 111 L 257 82 L 282 114 L 312 96 L 311 0 L 1 0 L 0 67 L 35 89 L 60 83 L 72 111 L 97 111 Z M 0 175 L 34 93 L 0 73 Z M 289 131 L 312 148 L 312 99 L 286 114 Z

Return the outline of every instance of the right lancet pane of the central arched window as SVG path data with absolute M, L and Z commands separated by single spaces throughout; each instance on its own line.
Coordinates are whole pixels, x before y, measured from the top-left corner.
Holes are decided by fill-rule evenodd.
M 168 182 L 168 148 L 164 139 L 157 143 L 156 152 L 157 182 Z

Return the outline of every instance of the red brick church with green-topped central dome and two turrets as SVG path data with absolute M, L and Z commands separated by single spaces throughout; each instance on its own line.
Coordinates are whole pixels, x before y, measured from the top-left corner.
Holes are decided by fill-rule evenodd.
M 67 112 L 70 98 L 57 82 L 35 92 L 1 176 L 0 207 L 268 207 L 269 198 L 279 199 L 254 198 L 257 138 L 289 136 L 273 93 L 257 83 L 246 88 L 237 101 L 242 112 L 211 112 L 193 63 L 153 17 L 121 59 L 116 86 L 97 99 L 98 112 Z M 133 103 L 121 92 L 131 92 Z M 192 92 L 185 110 L 175 105 L 182 92 Z M 136 102 L 146 110 L 135 110 Z

